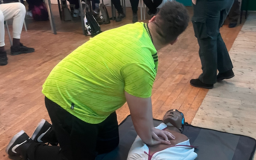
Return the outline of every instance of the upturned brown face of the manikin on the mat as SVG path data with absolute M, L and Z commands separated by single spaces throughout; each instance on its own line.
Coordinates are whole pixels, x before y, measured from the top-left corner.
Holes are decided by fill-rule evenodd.
M 180 129 L 182 126 L 183 116 L 181 113 L 175 109 L 167 111 L 163 116 L 163 122 L 166 125 L 173 125 L 174 127 Z

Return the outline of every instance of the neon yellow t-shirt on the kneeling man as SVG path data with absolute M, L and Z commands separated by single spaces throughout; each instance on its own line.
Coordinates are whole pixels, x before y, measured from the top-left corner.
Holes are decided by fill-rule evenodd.
M 156 53 L 145 23 L 105 31 L 59 62 L 42 92 L 84 122 L 99 124 L 124 105 L 124 91 L 151 96 Z

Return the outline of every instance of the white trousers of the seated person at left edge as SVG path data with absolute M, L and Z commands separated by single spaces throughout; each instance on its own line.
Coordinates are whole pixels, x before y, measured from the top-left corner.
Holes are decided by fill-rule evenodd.
M 4 21 L 13 18 L 13 38 L 20 39 L 26 8 L 22 3 L 6 3 L 0 4 L 0 47 L 5 46 L 4 43 Z

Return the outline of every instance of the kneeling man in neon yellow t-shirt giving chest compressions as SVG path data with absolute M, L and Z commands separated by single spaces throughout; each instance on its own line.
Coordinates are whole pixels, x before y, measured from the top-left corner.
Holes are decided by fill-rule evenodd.
M 188 22 L 185 6 L 173 1 L 148 24 L 128 24 L 91 38 L 57 64 L 43 85 L 52 125 L 41 121 L 31 139 L 19 132 L 6 152 L 29 160 L 94 160 L 118 145 L 115 111 L 126 101 L 145 144 L 170 144 L 175 137 L 153 126 L 157 50 L 174 44 Z

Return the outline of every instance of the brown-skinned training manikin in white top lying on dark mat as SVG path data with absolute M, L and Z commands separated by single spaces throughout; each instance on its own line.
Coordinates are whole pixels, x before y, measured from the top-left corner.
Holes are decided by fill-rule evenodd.
M 182 134 L 184 122 L 184 115 L 180 111 L 176 109 L 167 111 L 163 117 L 163 123 L 156 128 L 175 136 L 174 140 L 169 139 L 171 145 L 148 146 L 137 136 L 127 160 L 195 160 L 197 157 L 194 152 L 195 147 L 191 146 L 188 137 Z

